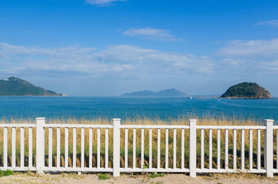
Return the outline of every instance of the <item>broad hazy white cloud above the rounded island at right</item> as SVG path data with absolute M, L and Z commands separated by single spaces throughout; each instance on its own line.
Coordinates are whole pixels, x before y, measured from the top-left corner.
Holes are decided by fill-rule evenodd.
M 232 72 L 277 74 L 278 38 L 270 40 L 232 40 L 220 48 L 216 55 L 222 58 L 222 67 Z M 219 65 L 219 66 L 220 66 Z

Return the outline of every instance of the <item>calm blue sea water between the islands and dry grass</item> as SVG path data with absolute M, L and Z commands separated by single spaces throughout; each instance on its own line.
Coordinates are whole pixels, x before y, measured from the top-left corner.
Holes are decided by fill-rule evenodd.
M 10 117 L 241 117 L 278 120 L 278 99 L 121 97 L 0 97 L 0 118 Z

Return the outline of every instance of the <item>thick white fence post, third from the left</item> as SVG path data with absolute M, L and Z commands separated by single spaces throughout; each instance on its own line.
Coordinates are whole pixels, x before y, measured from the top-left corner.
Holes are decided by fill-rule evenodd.
M 196 122 L 197 119 L 189 120 L 189 176 L 196 177 Z

